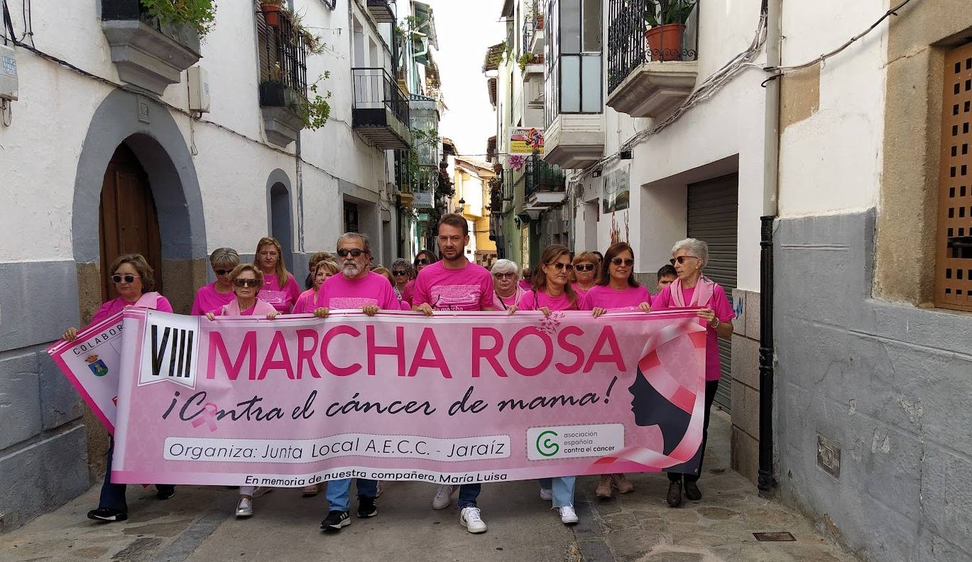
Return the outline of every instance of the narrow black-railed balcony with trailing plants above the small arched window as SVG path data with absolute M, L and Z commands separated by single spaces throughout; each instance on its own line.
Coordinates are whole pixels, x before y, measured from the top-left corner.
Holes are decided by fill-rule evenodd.
M 286 147 L 304 127 L 298 108 L 307 101 L 307 46 L 289 18 L 276 26 L 257 21 L 260 46 L 260 114 L 266 140 Z

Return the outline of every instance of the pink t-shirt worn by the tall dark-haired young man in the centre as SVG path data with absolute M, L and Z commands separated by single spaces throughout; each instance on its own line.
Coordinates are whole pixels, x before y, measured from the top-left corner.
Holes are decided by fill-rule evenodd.
M 446 269 L 443 262 L 435 262 L 419 271 L 415 279 L 412 304 L 425 302 L 435 310 L 492 310 L 493 276 L 476 263 Z

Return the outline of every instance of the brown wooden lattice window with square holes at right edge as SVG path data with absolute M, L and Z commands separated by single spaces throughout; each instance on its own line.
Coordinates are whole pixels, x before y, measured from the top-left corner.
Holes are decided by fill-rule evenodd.
M 972 43 L 945 55 L 935 305 L 972 311 Z

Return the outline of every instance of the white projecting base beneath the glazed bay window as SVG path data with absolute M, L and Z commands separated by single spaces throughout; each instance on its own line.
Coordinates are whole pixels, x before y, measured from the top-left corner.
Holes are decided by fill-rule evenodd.
M 605 152 L 604 114 L 562 113 L 543 135 L 543 159 L 565 169 L 585 168 Z

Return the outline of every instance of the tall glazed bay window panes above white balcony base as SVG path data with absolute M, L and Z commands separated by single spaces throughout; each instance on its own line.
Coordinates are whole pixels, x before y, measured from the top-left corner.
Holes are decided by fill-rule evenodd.
M 544 47 L 547 124 L 562 113 L 602 113 L 602 0 L 548 4 Z

